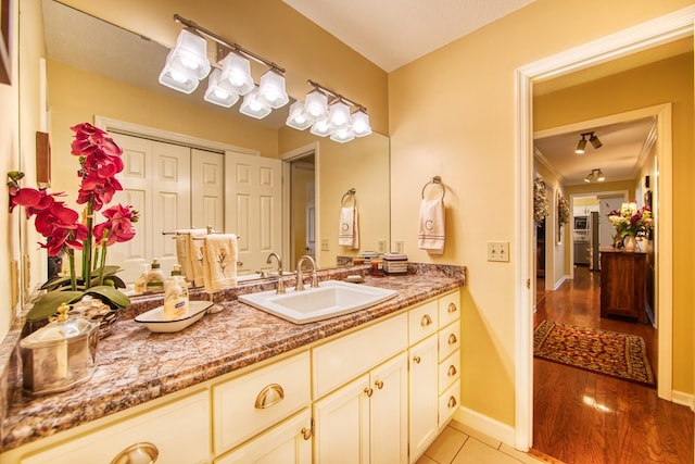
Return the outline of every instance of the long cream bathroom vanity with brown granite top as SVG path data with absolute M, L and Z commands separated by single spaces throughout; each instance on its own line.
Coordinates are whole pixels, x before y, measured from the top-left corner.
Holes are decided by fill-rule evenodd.
M 439 266 L 442 267 L 442 266 Z M 463 267 L 370 278 L 399 294 L 292 324 L 237 300 L 184 331 L 132 321 L 64 393 L 13 403 L 0 463 L 415 462 L 460 403 Z

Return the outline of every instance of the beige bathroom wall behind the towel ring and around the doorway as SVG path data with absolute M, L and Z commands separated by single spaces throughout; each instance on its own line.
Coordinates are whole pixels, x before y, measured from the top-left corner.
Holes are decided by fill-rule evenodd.
M 465 410 L 515 424 L 515 292 L 520 277 L 516 263 L 491 263 L 485 255 L 489 240 L 509 241 L 511 256 L 518 255 L 515 70 L 691 4 L 536 0 L 389 75 L 394 239 L 405 240 L 413 261 L 468 266 L 462 324 Z M 578 20 L 586 18 L 586 12 L 591 27 L 589 20 Z M 687 179 L 693 168 L 683 164 L 674 190 L 692 199 Z M 415 244 L 419 188 L 438 174 L 448 188 L 447 241 L 443 256 L 430 258 Z M 692 227 L 674 237 L 677 249 L 690 250 L 686 230 Z M 674 285 L 685 287 L 692 261 L 688 251 L 675 264 Z M 693 306 L 692 291 L 678 298 L 679 304 Z M 680 330 L 692 329 L 688 324 Z M 692 376 L 688 383 L 684 369 L 693 363 L 681 365 L 686 362 L 680 360 L 677 367 L 683 369 L 678 385 L 692 393 Z

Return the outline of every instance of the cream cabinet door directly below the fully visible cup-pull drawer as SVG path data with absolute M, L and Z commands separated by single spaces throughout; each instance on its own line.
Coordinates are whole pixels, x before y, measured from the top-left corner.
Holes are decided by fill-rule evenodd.
M 215 460 L 215 464 L 311 464 L 311 428 L 312 417 L 305 410 L 225 457 Z

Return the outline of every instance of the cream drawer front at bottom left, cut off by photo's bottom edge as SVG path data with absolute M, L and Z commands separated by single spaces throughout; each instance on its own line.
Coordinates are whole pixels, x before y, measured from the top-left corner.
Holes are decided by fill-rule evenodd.
M 162 463 L 207 463 L 210 396 L 200 391 L 23 457 L 22 464 L 109 464 L 122 451 L 151 443 Z

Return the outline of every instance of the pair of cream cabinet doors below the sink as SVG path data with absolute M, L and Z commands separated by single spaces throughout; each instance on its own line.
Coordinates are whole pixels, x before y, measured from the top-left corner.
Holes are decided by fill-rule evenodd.
M 407 360 L 401 353 L 315 402 L 317 463 L 407 462 Z

